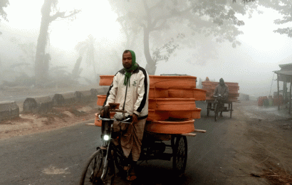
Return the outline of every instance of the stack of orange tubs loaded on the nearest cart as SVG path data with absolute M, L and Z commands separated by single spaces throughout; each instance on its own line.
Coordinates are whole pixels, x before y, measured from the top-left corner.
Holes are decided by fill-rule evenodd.
M 148 122 L 145 130 L 162 134 L 193 132 L 194 119 L 201 118 L 201 109 L 196 107 L 195 101 L 206 100 L 206 90 L 196 88 L 197 78 L 189 75 L 149 77 Z M 100 75 L 100 85 L 110 85 L 112 82 L 113 75 Z M 98 105 L 103 105 L 105 97 L 98 95 Z

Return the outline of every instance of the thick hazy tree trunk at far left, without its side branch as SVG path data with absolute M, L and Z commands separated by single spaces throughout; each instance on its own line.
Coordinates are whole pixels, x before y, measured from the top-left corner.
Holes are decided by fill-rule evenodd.
M 45 79 L 48 79 L 44 71 L 44 56 L 46 52 L 46 44 L 48 39 L 48 26 L 51 23 L 51 4 L 52 1 L 46 0 L 41 9 L 41 28 L 38 35 L 38 43 L 36 45 L 36 61 L 35 61 L 35 76 L 36 86 L 41 86 Z

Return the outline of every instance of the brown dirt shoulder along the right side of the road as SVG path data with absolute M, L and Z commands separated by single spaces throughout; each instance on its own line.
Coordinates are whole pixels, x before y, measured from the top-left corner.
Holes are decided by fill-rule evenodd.
M 236 150 L 232 164 L 238 174 L 231 178 L 240 178 L 246 184 L 249 178 L 264 178 L 271 184 L 292 184 L 290 116 L 278 112 L 276 107 L 258 107 L 256 102 L 237 103 L 234 107 L 229 141 Z

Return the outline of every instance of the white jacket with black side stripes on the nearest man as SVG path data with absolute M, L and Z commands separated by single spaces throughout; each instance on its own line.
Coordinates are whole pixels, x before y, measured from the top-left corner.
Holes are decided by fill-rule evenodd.
M 126 97 L 126 116 L 135 113 L 138 115 L 138 120 L 147 118 L 150 79 L 146 70 L 138 65 L 138 68 L 132 72 L 130 85 L 129 83 L 127 86 L 124 85 L 124 80 L 125 70 L 122 69 L 115 74 L 104 105 L 110 102 L 120 103 L 119 109 L 122 110 Z M 125 96 L 126 91 L 127 96 Z

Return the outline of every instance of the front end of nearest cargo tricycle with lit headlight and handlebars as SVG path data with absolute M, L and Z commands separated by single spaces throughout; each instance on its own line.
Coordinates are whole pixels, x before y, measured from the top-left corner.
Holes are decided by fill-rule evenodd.
M 80 178 L 80 185 L 113 184 L 115 179 L 115 166 L 121 170 L 122 165 L 126 165 L 122 149 L 119 149 L 119 147 L 114 144 L 114 139 L 118 136 L 112 135 L 113 122 L 118 121 L 120 123 L 130 124 L 132 119 L 131 117 L 127 117 L 125 120 L 110 118 L 110 112 L 123 112 L 122 110 L 115 110 L 113 107 L 105 107 L 104 112 L 104 116 L 100 117 L 100 120 L 103 122 L 101 134 L 102 145 L 101 147 L 97 147 L 97 150 L 88 159 Z

